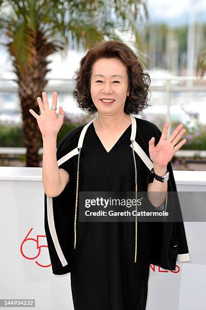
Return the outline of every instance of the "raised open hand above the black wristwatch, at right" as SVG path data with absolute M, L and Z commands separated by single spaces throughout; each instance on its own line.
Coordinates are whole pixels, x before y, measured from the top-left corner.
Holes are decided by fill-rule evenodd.
M 176 152 L 173 146 L 179 150 L 181 146 L 187 141 L 186 139 L 183 139 L 180 143 L 178 143 L 186 131 L 182 124 L 177 126 L 169 139 L 166 140 L 169 125 L 169 122 L 164 124 L 161 137 L 156 146 L 154 146 L 154 137 L 152 137 L 149 141 L 149 156 L 155 166 L 167 167 L 167 164 L 171 161 Z

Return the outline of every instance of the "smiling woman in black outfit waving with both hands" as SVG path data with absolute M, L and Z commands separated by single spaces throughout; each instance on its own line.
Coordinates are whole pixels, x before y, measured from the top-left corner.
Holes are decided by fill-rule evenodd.
M 56 138 L 64 118 L 62 107 L 56 115 L 57 93 L 51 109 L 43 92 L 44 105 L 37 98 L 41 115 L 29 110 L 44 142 L 45 230 L 53 273 L 71 273 L 75 310 L 145 309 L 149 264 L 175 268 L 178 253 L 183 255 L 181 261 L 189 260 L 184 225 L 178 226 L 182 248 L 176 250 L 177 244 L 171 243 L 168 248 L 169 242 L 163 248 L 166 223 L 137 225 L 137 217 L 135 223 L 78 221 L 78 196 L 79 192 L 148 191 L 154 207 L 165 204 L 168 182 L 169 189 L 176 191 L 170 161 L 186 142 L 179 142 L 185 129 L 180 124 L 167 140 L 169 122 L 161 133 L 156 125 L 132 117 L 148 106 L 150 78 L 123 43 L 107 41 L 90 49 L 76 75 L 73 95 L 78 106 L 89 114 L 98 112 L 98 118 L 70 131 L 57 154 Z M 138 145 L 145 150 L 142 158 Z M 155 174 L 145 165 L 147 156 Z M 153 191 L 161 192 L 156 200 Z M 177 229 L 170 227 L 173 236 L 167 240 L 176 243 Z

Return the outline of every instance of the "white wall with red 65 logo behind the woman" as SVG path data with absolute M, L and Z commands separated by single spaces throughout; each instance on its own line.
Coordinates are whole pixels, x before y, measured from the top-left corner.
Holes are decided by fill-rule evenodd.
M 174 175 L 178 190 L 206 191 L 206 172 Z M 37 310 L 73 310 L 70 274 L 53 275 L 50 265 L 42 168 L 0 167 L 0 190 L 0 299 L 35 299 Z M 176 271 L 150 265 L 147 310 L 206 308 L 205 226 L 185 222 L 191 262 L 177 263 Z

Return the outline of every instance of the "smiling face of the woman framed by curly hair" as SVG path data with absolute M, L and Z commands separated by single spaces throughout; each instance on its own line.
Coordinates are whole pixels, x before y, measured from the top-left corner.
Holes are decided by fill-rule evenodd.
M 98 59 L 93 65 L 90 91 L 98 113 L 123 111 L 129 96 L 126 66 L 116 58 Z M 102 99 L 114 101 L 103 102 Z

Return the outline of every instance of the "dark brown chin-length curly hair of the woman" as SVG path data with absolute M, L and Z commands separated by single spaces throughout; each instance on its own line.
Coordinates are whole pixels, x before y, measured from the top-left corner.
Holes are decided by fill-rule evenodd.
M 119 41 L 103 41 L 89 49 L 87 54 L 81 58 L 80 67 L 75 71 L 73 79 L 76 81 L 73 97 L 77 106 L 89 114 L 97 112 L 93 103 L 90 86 L 94 63 L 101 58 L 119 59 L 127 67 L 129 91 L 124 106 L 127 114 L 140 114 L 149 105 L 148 93 L 150 93 L 150 76 L 143 72 L 144 66 L 138 56 L 126 44 Z

